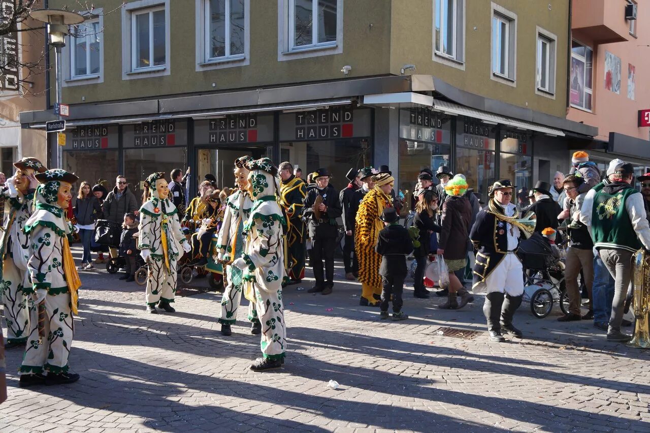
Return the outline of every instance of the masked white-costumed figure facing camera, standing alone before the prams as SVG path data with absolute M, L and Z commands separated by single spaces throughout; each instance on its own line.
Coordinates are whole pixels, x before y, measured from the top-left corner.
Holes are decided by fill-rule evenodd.
M 191 250 L 185 239 L 178 211 L 168 198 L 169 190 L 164 173 L 153 173 L 147 177 L 151 198 L 140 208 L 138 250 L 149 264 L 147 277 L 147 311 L 157 313 L 155 305 L 168 313 L 175 310 L 170 306 L 176 292 L 176 263 L 183 251 Z M 182 246 L 182 249 L 181 249 Z

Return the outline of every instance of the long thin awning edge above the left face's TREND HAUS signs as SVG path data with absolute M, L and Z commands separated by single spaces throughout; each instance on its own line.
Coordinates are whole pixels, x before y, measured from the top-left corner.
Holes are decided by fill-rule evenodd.
M 236 107 L 222 110 L 202 110 L 202 111 L 185 111 L 174 113 L 156 113 L 146 114 L 144 116 L 120 116 L 120 117 L 103 117 L 92 119 L 75 119 L 67 120 L 66 126 L 83 126 L 96 124 L 136 124 L 140 122 L 150 122 L 151 120 L 179 119 L 179 118 L 220 118 L 228 114 L 244 114 L 250 112 L 269 112 L 269 111 L 309 111 L 319 108 L 336 107 L 338 105 L 349 105 L 355 98 L 341 99 L 321 99 L 317 101 L 302 101 L 298 103 L 281 103 L 272 105 L 254 105 L 250 107 Z M 39 122 L 29 125 L 32 129 L 44 129 L 45 123 Z

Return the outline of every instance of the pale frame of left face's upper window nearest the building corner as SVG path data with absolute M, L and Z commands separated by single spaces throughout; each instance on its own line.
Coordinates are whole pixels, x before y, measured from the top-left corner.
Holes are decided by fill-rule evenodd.
M 317 10 L 318 0 L 313 1 Z M 295 18 L 294 0 L 278 0 L 278 61 L 305 59 L 343 53 L 343 3 L 336 0 L 336 41 L 314 44 L 317 34 L 317 25 L 312 26 L 312 44 L 307 46 L 294 46 Z

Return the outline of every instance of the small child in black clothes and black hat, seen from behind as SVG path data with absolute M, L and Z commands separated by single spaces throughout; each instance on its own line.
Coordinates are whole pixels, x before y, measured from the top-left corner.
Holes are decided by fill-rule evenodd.
M 402 312 L 402 291 L 408 270 L 406 256 L 413 252 L 413 242 L 408 230 L 398 224 L 400 217 L 394 207 L 383 209 L 380 220 L 384 228 L 379 232 L 375 251 L 382 256 L 379 274 L 382 276 L 382 300 L 379 304 L 380 318 L 388 319 L 388 303 L 393 295 L 393 320 L 403 321 L 408 315 Z

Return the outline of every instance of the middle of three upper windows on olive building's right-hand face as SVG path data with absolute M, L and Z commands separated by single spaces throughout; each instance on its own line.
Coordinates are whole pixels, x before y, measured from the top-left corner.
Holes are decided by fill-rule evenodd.
M 495 3 L 492 7 L 491 76 L 512 85 L 517 64 L 517 16 Z

